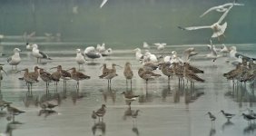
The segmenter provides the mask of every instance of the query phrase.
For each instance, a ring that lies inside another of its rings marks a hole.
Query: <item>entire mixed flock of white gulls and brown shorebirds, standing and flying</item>
[[[107,2],[107,0],[103,0],[103,4],[101,7]],[[208,26],[192,26],[192,27],[181,27],[182,30],[197,30],[197,29],[203,29],[203,28],[212,28],[213,34],[212,38],[218,37],[220,38],[221,35],[224,36],[224,31],[227,27],[227,23],[222,24],[222,21],[224,20],[225,16],[230,12],[233,5],[243,5],[243,4],[237,4],[237,3],[228,3],[224,5],[218,5],[210,8],[205,13],[201,15],[208,14],[209,12],[216,10],[218,12],[223,12],[223,15],[221,18],[214,24],[208,25]],[[219,39],[220,40],[220,39]],[[235,81],[238,81],[240,83],[255,83],[256,79],[256,64],[253,62],[254,59],[250,59],[240,53],[237,53],[236,47],[232,46],[230,48],[226,47],[224,44],[222,44],[222,49],[218,49],[215,47],[214,44],[212,44],[212,41],[210,41],[211,44],[208,45],[208,48],[211,53],[203,55],[205,58],[212,59],[212,62],[215,62],[217,58],[222,56],[231,56],[232,58],[236,58],[238,60],[238,64],[234,70],[231,70],[228,73],[224,73],[223,76],[226,77],[228,80],[231,80],[233,84],[235,84]],[[167,44],[164,43],[156,43],[154,44],[156,49],[160,52],[162,52]],[[187,80],[187,83],[191,83],[191,90],[194,90],[194,83],[200,82],[204,83],[205,80],[202,79],[199,75],[204,73],[203,70],[199,69],[198,67],[193,66],[190,62],[192,60],[192,56],[198,55],[197,52],[195,52],[195,49],[188,48],[183,51],[182,55],[179,55],[176,51],[172,51],[171,55],[162,56],[161,55],[155,55],[153,53],[150,53],[149,49],[151,46],[147,44],[146,42],[143,43],[143,48],[145,49],[144,53],[140,48],[136,48],[133,51],[135,52],[135,58],[139,63],[142,63],[142,66],[138,70],[138,75],[143,80],[145,80],[146,86],[148,82],[154,78],[157,78],[159,76],[162,76],[159,73],[154,73],[155,70],[159,69],[161,70],[162,74],[168,77],[168,83],[170,83],[172,76],[176,76],[178,79],[179,85],[184,85],[185,80]],[[36,63],[41,63],[42,59],[46,60],[52,60],[46,53],[43,53],[38,49],[37,44],[26,44],[26,49],[30,50],[32,55],[36,58]],[[86,47],[84,52],[81,49],[76,49],[76,57],[75,61],[78,64],[78,70],[75,67],[72,67],[68,70],[64,70],[62,68],[62,65],[58,65],[56,67],[53,67],[51,69],[56,69],[54,73],[48,73],[46,70],[42,67],[35,66],[34,72],[28,71],[28,68],[25,68],[23,70],[18,70],[17,65],[21,63],[22,59],[19,55],[21,50],[19,48],[14,49],[14,54],[7,58],[7,63],[12,65],[12,70],[15,71],[15,73],[19,73],[21,71],[24,71],[24,75],[21,80],[24,80],[27,84],[28,92],[32,94],[32,86],[33,83],[38,83],[38,78],[40,77],[42,81],[45,82],[46,87],[46,94],[49,93],[49,83],[54,83],[54,92],[57,92],[58,90],[58,83],[62,79],[64,81],[64,91],[66,91],[66,82],[69,80],[76,81],[76,89],[79,91],[79,84],[82,80],[89,80],[91,77],[80,72],[81,65],[83,66],[84,63],[86,63],[86,58],[90,58],[94,61],[94,59],[101,58],[103,56],[108,56],[113,53],[111,48],[105,49],[105,44],[97,44],[96,47],[89,46]],[[239,57],[237,57],[239,55]],[[180,57],[182,56],[182,57]],[[99,78],[106,79],[108,81],[108,88],[111,89],[112,86],[112,79],[118,74],[116,73],[116,66],[122,67],[116,63],[112,64],[111,68],[108,68],[106,63],[103,63],[103,72],[101,75],[99,75]],[[15,68],[14,68],[15,67]],[[122,67],[123,68],[123,67]],[[3,69],[3,66],[0,66],[0,71],[3,71],[5,74],[5,70]],[[131,90],[132,90],[132,80],[133,80],[133,69],[132,64],[130,62],[127,62],[124,64],[123,68],[123,76],[126,79],[126,85],[128,86],[130,81]],[[3,80],[3,74],[0,73],[0,83],[2,83]],[[0,85],[1,87],[1,85]],[[131,116],[133,119],[136,119],[138,116],[139,110],[132,110],[131,109],[131,103],[136,100],[138,95],[133,94],[133,92],[123,92],[124,100],[126,101],[128,105],[127,111],[124,112],[123,119],[126,118],[126,116]],[[12,102],[5,102],[3,100],[0,101],[0,107],[1,111],[3,109],[7,109],[7,112],[10,114],[10,116],[7,117],[7,120],[15,121],[15,115],[18,115],[20,113],[23,113],[24,111],[20,111],[16,109],[15,107],[11,106]],[[54,112],[52,110],[55,106],[55,104],[51,102],[41,102],[40,106],[42,110],[39,112],[39,115],[45,114],[45,116],[49,115],[50,113]],[[231,120],[231,118],[234,116],[234,114],[227,113],[224,111],[221,111],[222,114],[227,118],[228,121]],[[95,123],[95,128],[97,128],[97,125],[103,126],[103,116],[106,113],[106,105],[102,104],[102,107],[96,111],[93,111],[92,118],[95,120],[98,118],[98,122]],[[215,121],[216,117],[212,114],[212,112],[208,112],[209,117],[211,121]],[[241,114],[243,118],[247,121],[252,121],[256,119],[256,114],[249,110],[249,113],[242,113]]]

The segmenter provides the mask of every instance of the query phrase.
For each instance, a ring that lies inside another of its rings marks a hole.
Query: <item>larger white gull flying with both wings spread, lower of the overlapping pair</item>
[[[224,32],[227,28],[227,23],[225,22],[224,24],[221,24],[223,19],[228,15],[229,11],[231,10],[233,5],[231,5],[227,11],[221,16],[221,18],[214,24],[212,25],[205,25],[205,26],[191,26],[191,27],[182,27],[178,26],[178,28],[182,30],[198,30],[198,29],[204,29],[204,28],[211,28],[213,30],[212,38],[218,37],[218,40],[220,41],[220,36],[224,36]]]

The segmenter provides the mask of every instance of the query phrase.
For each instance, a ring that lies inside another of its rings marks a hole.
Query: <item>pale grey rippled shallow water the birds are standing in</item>
[[[21,49],[25,45],[18,43],[16,45]],[[15,45],[4,44],[3,52],[6,53],[1,57],[1,63],[5,63],[6,56],[12,53]],[[39,44],[40,46],[40,44]],[[241,117],[241,112],[250,107],[256,110],[255,96],[253,88],[249,85],[239,86],[236,90],[232,89],[230,82],[222,77],[222,73],[230,71],[233,66],[225,63],[225,57],[219,58],[215,63],[211,60],[202,59],[200,56],[207,53],[205,45],[169,45],[164,54],[168,54],[175,50],[182,53],[182,50],[195,46],[198,56],[192,59],[192,64],[204,70],[200,76],[205,79],[205,83],[195,83],[194,93],[190,90],[190,85],[182,88],[178,85],[178,80],[173,77],[170,85],[168,85],[167,77],[161,77],[149,81],[146,87],[145,82],[138,76],[137,71],[140,63],[135,61],[133,49],[129,47],[113,50],[113,55],[95,60],[94,63],[87,62],[84,65],[83,73],[91,76],[90,80],[80,82],[80,90],[77,93],[75,82],[68,81],[67,92],[63,92],[63,82],[58,84],[58,93],[54,94],[54,84],[50,84],[51,97],[54,103],[59,106],[54,108],[58,113],[47,117],[38,116],[41,110],[38,101],[45,99],[45,83],[41,81],[33,84],[33,95],[28,95],[25,82],[19,81],[18,77],[22,77],[23,73],[14,73],[11,66],[4,66],[8,76],[2,81],[1,98],[8,102],[13,102],[13,106],[25,111],[15,117],[15,121],[22,122],[15,129],[11,129],[12,135],[101,135],[106,136],[155,136],[155,135],[183,135],[183,136],[205,136],[205,135],[255,135],[255,124],[249,125]],[[229,44],[231,46],[231,44]],[[255,44],[238,45],[241,53],[255,57]],[[58,50],[62,49],[60,53]],[[47,63],[35,63],[36,60],[29,52],[22,52],[22,63],[18,65],[18,69],[29,68],[33,70],[34,65],[49,70],[58,64],[64,69],[73,66],[78,67],[74,61],[75,49],[84,46],[72,46],[72,44],[42,44],[40,49],[48,53],[53,61]],[[251,49],[251,50],[249,50]],[[158,53],[155,49],[151,52]],[[131,62],[133,66],[133,87],[126,86],[123,76],[123,68],[117,68],[118,76],[113,79],[112,88],[107,89],[107,81],[99,79],[101,74],[100,66],[107,63],[116,63],[121,66],[125,62]],[[49,70],[53,73],[54,70]],[[157,70],[156,73],[161,73]],[[140,95],[137,101],[132,102],[133,110],[140,110],[137,120],[133,122],[131,117],[123,120],[123,113],[128,106],[123,100],[124,91],[133,91]],[[58,99],[56,99],[58,98]],[[101,104],[105,103],[107,112],[104,116],[103,123],[94,126],[94,120],[91,113]],[[231,121],[226,119],[220,113],[221,110],[235,113],[236,116]],[[217,120],[215,124],[211,123],[206,112],[212,112]],[[0,117],[0,131],[5,132],[9,124],[5,116]],[[100,127],[105,127],[105,131],[101,131]],[[93,129],[96,128],[96,129]]]

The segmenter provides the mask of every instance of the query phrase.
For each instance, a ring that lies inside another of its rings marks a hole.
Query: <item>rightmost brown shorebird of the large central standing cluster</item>
[[[192,88],[194,88],[194,82],[201,82],[204,83],[204,80],[200,78],[197,74],[192,73],[189,69],[189,64],[184,63],[184,71],[183,71],[183,76],[191,82]]]

